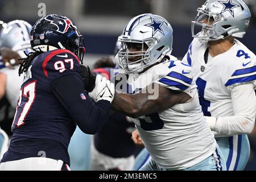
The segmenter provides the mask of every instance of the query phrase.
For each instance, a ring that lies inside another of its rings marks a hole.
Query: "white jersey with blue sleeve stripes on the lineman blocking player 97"
[[[122,70],[119,72],[123,73]],[[156,164],[163,169],[184,169],[212,155],[216,140],[201,111],[191,67],[171,56],[169,61],[155,65],[144,73],[130,74],[127,90],[137,93],[152,82],[191,96],[191,100],[184,104],[131,118]]]

